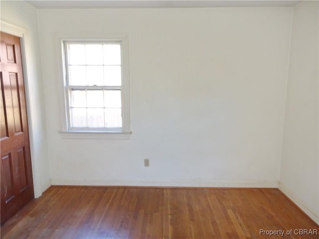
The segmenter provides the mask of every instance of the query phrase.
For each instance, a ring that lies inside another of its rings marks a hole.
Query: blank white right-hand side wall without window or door
[[[319,224],[318,7],[294,9],[280,189]]]

